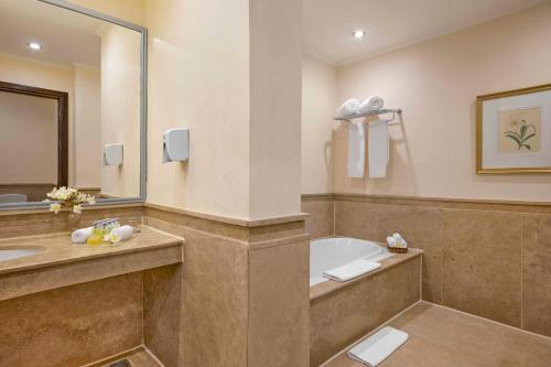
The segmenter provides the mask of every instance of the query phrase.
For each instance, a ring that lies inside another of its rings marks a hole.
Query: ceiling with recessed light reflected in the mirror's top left
[[[63,65],[99,67],[104,21],[36,0],[0,0],[0,53]],[[36,41],[43,50],[32,51]]]

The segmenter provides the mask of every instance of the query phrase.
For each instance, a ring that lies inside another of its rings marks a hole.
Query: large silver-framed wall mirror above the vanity
[[[62,0],[0,0],[0,209],[54,186],[145,197],[147,31]]]

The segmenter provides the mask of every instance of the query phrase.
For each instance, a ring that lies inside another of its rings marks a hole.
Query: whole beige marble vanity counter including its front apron
[[[0,261],[0,301],[183,261],[182,238],[140,230],[115,247],[72,245],[66,233],[0,239],[0,250],[39,250]]]

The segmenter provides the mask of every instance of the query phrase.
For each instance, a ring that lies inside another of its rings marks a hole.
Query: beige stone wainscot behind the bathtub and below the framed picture
[[[399,231],[423,249],[423,300],[551,336],[551,205],[361,195],[334,203],[335,235],[383,241]]]

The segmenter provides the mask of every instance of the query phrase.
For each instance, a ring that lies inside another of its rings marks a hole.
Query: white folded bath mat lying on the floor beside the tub
[[[391,326],[385,326],[364,342],[348,350],[348,357],[376,367],[408,341],[408,334]]]

